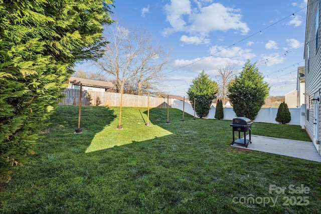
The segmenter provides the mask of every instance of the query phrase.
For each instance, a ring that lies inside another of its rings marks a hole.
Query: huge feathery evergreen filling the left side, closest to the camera
[[[103,53],[113,0],[0,0],[0,180],[22,165],[82,60]]]

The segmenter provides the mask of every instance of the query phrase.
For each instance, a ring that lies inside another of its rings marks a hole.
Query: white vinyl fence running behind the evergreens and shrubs
[[[172,100],[172,108],[177,108],[183,111],[183,101],[180,100]],[[205,119],[215,119],[215,107],[211,107],[209,114]],[[289,125],[301,125],[304,128],[304,106],[301,108],[289,108],[291,113],[291,121],[287,124]],[[185,102],[184,112],[194,116],[194,110],[189,102]],[[301,113],[303,112],[303,113]],[[224,120],[232,120],[236,117],[233,108],[223,108]],[[277,108],[261,108],[258,115],[256,116],[253,122],[264,122],[264,123],[278,123],[275,121],[277,113]],[[195,117],[198,117],[195,114]],[[302,123],[303,121],[303,123]]]

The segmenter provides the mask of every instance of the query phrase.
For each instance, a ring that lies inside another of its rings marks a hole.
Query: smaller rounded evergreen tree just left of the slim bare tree
[[[217,83],[210,80],[204,70],[193,80],[193,85],[190,86],[187,94],[193,108],[194,98],[196,98],[195,112],[200,118],[207,116],[209,113],[212,101],[216,98],[217,88]]]

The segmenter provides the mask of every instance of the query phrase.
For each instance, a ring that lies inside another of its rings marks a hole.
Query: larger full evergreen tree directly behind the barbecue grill
[[[240,75],[228,85],[228,97],[236,116],[254,120],[269,94],[269,89],[255,63],[251,64],[248,60]]]

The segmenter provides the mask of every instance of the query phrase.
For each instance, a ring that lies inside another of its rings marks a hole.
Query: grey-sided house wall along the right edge
[[[305,30],[305,128],[311,140],[319,140],[320,135],[320,119],[321,115],[318,112],[316,119],[318,120],[318,130],[314,132],[314,102],[313,98],[319,97],[321,89],[321,38],[320,38],[320,1],[308,1],[306,30]],[[318,15],[318,17],[316,17]],[[317,29],[316,29],[317,28]],[[320,38],[320,39],[319,39]],[[316,46],[317,45],[317,46]],[[320,111],[320,102],[318,111]],[[319,152],[319,145],[314,142],[315,147]]]

